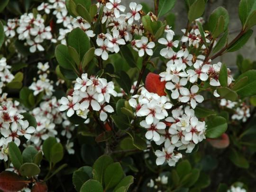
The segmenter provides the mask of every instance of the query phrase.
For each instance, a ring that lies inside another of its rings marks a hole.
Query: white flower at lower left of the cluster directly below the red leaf
[[[153,139],[155,142],[160,140],[160,135],[159,133],[157,133],[157,130],[165,129],[166,127],[165,123],[159,122],[159,120],[155,118],[151,125],[148,125],[145,120],[141,121],[139,124],[141,127],[144,127],[147,129],[145,137],[148,140]]]

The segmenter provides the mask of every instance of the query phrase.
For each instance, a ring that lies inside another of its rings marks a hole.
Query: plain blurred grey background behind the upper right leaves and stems
[[[122,0],[122,3],[129,5],[131,1],[140,3],[145,2],[150,7],[154,7],[154,0]],[[232,40],[239,33],[241,29],[241,23],[238,16],[238,4],[240,0],[208,0],[206,4],[206,11],[203,15],[205,20],[208,20],[210,13],[219,6],[224,7],[229,12],[229,41]],[[187,11],[185,8],[184,0],[177,0],[174,6],[174,9],[171,10],[172,13],[175,14],[175,33],[182,35],[180,31],[182,28],[186,27],[187,23]],[[254,27],[253,29],[256,29]],[[244,58],[250,59],[251,61],[256,61],[256,31],[254,30],[254,34],[250,37],[247,44],[233,53],[226,53],[219,58],[216,58],[215,61],[221,61],[226,63],[230,68],[236,68],[236,57],[238,54],[242,54]]]

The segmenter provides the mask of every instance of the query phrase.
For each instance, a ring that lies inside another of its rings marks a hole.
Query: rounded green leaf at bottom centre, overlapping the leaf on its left
[[[115,187],[123,177],[124,172],[120,163],[110,164],[104,173],[105,190]]]

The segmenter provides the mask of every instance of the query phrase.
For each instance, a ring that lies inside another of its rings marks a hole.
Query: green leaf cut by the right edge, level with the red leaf
[[[236,81],[240,81],[244,77],[248,77],[247,84],[239,89],[237,93],[243,97],[256,95],[256,70],[249,70],[241,74]]]

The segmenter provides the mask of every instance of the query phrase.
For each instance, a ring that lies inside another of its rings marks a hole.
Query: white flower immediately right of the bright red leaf
[[[183,86],[185,86],[188,81],[185,78],[179,79],[177,76],[174,76],[172,81],[174,83],[167,82],[165,84],[165,88],[172,91],[171,97],[173,99],[177,99],[180,96],[179,90],[183,88]]]

